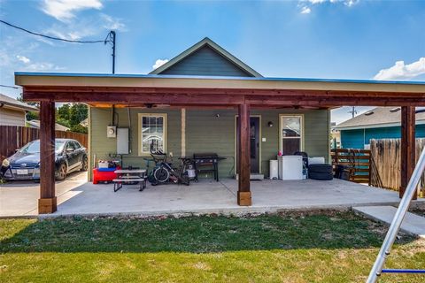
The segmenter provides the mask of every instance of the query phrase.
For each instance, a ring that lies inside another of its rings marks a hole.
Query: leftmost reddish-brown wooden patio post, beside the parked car
[[[38,213],[53,213],[55,195],[55,103],[40,103],[40,199]]]

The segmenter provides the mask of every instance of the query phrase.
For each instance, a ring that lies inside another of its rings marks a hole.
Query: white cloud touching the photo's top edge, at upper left
[[[73,19],[76,11],[102,9],[100,0],[44,0],[42,11],[61,21]]]

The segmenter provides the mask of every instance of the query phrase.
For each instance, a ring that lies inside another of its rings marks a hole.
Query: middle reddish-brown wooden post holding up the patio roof
[[[249,206],[251,201],[251,148],[250,148],[250,105],[239,105],[238,119],[239,152],[237,163],[239,169],[237,204]]]

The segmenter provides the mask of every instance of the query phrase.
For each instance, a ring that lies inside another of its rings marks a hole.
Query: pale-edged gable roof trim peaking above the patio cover
[[[220,47],[219,44],[213,42],[208,37],[205,37],[202,41],[197,42],[195,45],[189,47],[189,49],[184,50],[182,53],[166,62],[166,64],[159,66],[157,69],[153,70],[150,74],[161,74],[165,72],[167,69],[171,68],[173,65],[182,62],[183,59],[193,55],[198,50],[202,48],[209,47],[218,53],[221,57],[226,58],[232,65],[236,65],[239,69],[241,69],[244,73],[251,75],[252,77],[262,77],[261,74],[252,69],[249,65],[244,64],[241,60],[230,54],[227,50]]]

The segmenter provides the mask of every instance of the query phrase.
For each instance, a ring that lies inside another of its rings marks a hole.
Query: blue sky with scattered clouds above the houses
[[[0,19],[103,40],[116,73],[149,73],[205,36],[267,77],[425,80],[425,1],[8,1]],[[13,72],[110,73],[103,43],[52,42],[0,25],[0,84]],[[9,96],[19,89],[0,88]],[[367,108],[358,108],[365,111]],[[348,108],[333,119],[349,119]]]

